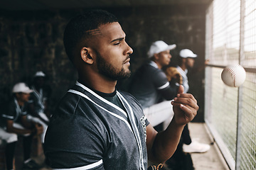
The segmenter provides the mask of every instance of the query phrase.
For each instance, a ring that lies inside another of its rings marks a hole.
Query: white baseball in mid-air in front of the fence
[[[238,87],[245,81],[246,72],[240,64],[229,65],[223,69],[221,79],[228,86]]]

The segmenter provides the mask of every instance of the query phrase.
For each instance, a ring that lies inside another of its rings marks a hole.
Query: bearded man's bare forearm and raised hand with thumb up
[[[196,116],[196,99],[191,94],[182,93],[183,86],[180,86],[172,102],[174,118],[166,130],[158,133],[151,125],[146,127],[146,147],[152,162],[163,163],[174,154],[184,126]]]

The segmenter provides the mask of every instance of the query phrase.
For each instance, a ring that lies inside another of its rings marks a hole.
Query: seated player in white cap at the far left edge
[[[38,169],[41,166],[31,159],[31,142],[34,135],[40,135],[43,128],[40,124],[28,121],[27,102],[33,90],[24,83],[14,85],[14,97],[1,115],[0,137],[6,140],[6,169],[13,168],[14,153],[18,135],[23,136],[23,169]]]

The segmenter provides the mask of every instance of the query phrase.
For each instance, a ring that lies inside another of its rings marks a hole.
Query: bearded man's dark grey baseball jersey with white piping
[[[53,169],[146,169],[142,106],[122,91],[109,97],[123,109],[79,82],[60,100],[45,139]]]

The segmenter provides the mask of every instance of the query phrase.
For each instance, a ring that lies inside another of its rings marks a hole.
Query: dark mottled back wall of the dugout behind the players
[[[105,8],[114,13],[133,48],[131,69],[144,62],[151,42],[176,43],[172,65],[178,51],[190,48],[198,54],[196,65],[204,62],[206,5],[143,6]],[[52,107],[78,78],[65,55],[63,30],[66,23],[83,10],[66,11],[1,11],[0,12],[0,103],[8,98],[18,81],[31,82],[36,71],[48,76],[53,89]],[[191,93],[201,107],[195,121],[203,121],[203,72],[191,75]],[[119,81],[118,89],[126,90],[130,79]]]

